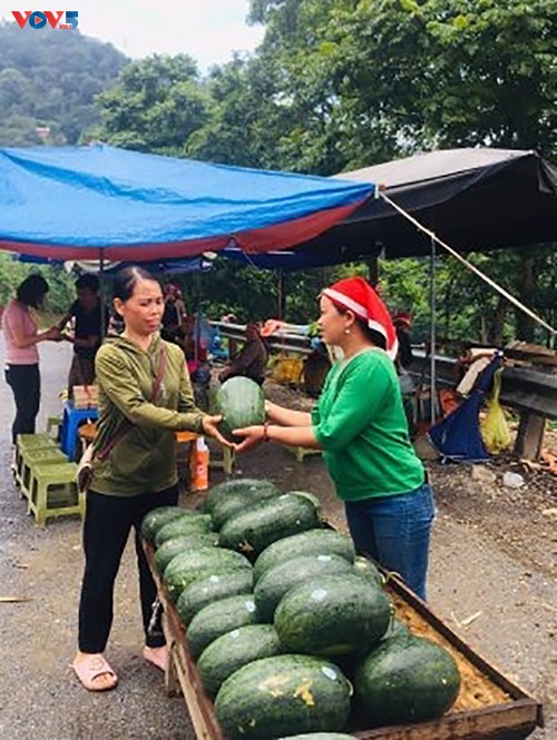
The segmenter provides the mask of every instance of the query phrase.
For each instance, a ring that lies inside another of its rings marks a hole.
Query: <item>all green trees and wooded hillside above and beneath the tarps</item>
[[[265,26],[252,56],[203,76],[190,57],[130,61],[79,32],[0,26],[0,145],[104,140],[141,151],[247,167],[333,175],[434,148],[494,146],[557,157],[557,0],[252,0]],[[38,129],[47,127],[45,138]],[[525,204],[527,207],[527,204]],[[555,245],[470,259],[557,323]],[[41,268],[47,269],[47,268]],[[52,270],[52,268],[50,268]],[[381,260],[379,289],[430,324],[429,262]],[[321,287],[373,265],[280,276],[217,259],[174,277],[188,308],[211,316],[315,315]],[[28,267],[0,259],[0,299]],[[71,282],[49,273],[62,309]],[[437,264],[444,337],[546,342],[450,257]],[[63,305],[63,306],[62,306]]]

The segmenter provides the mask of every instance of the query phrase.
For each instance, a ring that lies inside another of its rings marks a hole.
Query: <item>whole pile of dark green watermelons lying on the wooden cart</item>
[[[228,740],[342,740],[355,714],[424,721],[457,699],[452,655],[394,616],[379,571],[312,494],[227,481],[203,511],[157,509],[141,531]]]

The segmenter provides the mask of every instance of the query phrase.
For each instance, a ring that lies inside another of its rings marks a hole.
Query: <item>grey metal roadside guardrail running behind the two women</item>
[[[212,322],[223,336],[242,341],[245,326]],[[267,345],[274,351],[296,352],[309,355],[310,337],[302,334],[276,333],[266,337]],[[414,349],[414,362],[410,374],[414,379],[430,381],[431,361],[423,351]],[[436,383],[441,386],[455,385],[453,357],[436,357]],[[501,403],[520,412],[532,412],[547,418],[557,418],[557,373],[544,373],[529,367],[504,367],[501,375]]]

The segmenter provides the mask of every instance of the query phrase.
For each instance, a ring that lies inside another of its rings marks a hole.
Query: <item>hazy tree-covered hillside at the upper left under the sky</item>
[[[0,146],[77,144],[128,58],[76,31],[0,22]]]

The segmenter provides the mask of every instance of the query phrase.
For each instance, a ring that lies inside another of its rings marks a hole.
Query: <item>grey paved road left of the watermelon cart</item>
[[[3,343],[0,343],[3,361]],[[71,351],[43,344],[39,430],[60,408]],[[3,363],[2,363],[3,367]],[[2,378],[3,381],[3,378]],[[116,591],[108,658],[120,685],[88,693],[69,664],[82,572],[80,524],[75,517],[33,526],[9,473],[12,399],[0,383],[0,738],[10,740],[194,740],[180,699],[168,699],[162,673],[139,657],[141,630],[133,550],[128,546]]]

